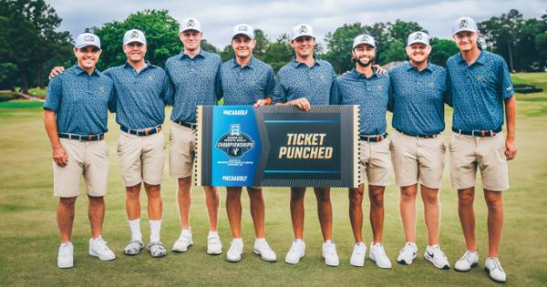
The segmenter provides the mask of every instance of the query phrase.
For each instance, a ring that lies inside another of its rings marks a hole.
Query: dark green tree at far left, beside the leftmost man
[[[57,32],[61,18],[43,0],[0,0],[0,62],[15,65],[21,92],[27,93],[31,77],[44,87],[45,65],[65,50],[67,32]],[[32,75],[35,72],[35,75]]]

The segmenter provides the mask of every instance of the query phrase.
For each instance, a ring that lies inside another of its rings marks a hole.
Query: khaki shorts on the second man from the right
[[[389,148],[397,186],[419,182],[429,189],[440,188],[446,151],[440,134],[437,138],[416,138],[395,129]]]

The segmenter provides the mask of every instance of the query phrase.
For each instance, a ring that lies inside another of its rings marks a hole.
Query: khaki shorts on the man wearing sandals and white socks
[[[121,176],[126,187],[133,187],[144,181],[158,185],[163,178],[163,149],[165,138],[162,133],[138,137],[119,132],[118,157]]]

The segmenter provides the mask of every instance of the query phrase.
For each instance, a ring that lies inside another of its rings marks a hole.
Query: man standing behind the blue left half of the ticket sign
[[[256,45],[254,29],[246,24],[233,27],[232,48],[235,57],[221,66],[221,92],[224,105],[269,105],[274,89],[274,70],[253,56]],[[226,211],[232,229],[232,244],[226,252],[227,261],[241,261],[243,254],[242,239],[242,188],[226,188]],[[265,240],[265,206],[260,187],[247,187],[251,200],[251,216],[254,223],[253,252],[263,261],[277,261],[274,251]]]

